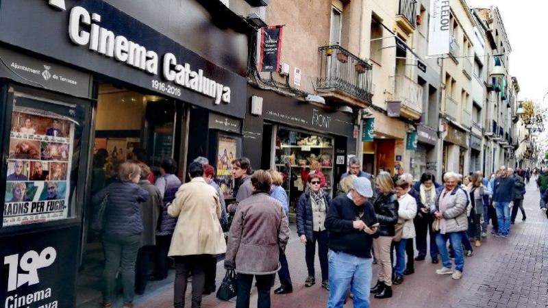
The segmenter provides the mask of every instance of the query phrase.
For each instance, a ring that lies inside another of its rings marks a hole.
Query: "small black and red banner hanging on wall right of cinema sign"
[[[279,25],[261,28],[260,72],[275,72],[278,70],[279,56],[282,54],[283,27]]]

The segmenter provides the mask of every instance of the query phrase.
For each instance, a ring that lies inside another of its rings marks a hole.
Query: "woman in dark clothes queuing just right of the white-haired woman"
[[[484,194],[485,187],[481,177],[476,174],[471,175],[468,184],[469,198],[472,205],[468,219],[468,235],[473,239],[474,246],[482,246],[482,215],[484,214]]]

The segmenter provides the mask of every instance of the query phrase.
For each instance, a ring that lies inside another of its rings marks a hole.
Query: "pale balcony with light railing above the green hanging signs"
[[[386,96],[386,101],[401,101],[400,115],[418,120],[423,113],[423,87],[405,75],[390,76],[394,87]]]

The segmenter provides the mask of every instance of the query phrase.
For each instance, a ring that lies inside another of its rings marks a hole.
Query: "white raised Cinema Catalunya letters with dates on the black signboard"
[[[69,16],[69,38],[80,46],[88,46],[90,51],[114,58],[119,62],[125,62],[128,66],[142,70],[151,75],[158,75],[158,70],[163,79],[172,81],[178,86],[212,97],[215,104],[230,103],[230,88],[219,82],[203,76],[203,70],[192,70],[188,63],[178,63],[173,53],[163,55],[162,66],[160,57],[155,51],[119,36],[114,32],[99,26],[101,15],[88,12],[81,6],[75,6]],[[180,90],[173,88],[173,93],[167,91],[167,87],[160,88],[159,81],[153,88],[169,94],[180,96]],[[155,86],[157,85],[157,86]]]

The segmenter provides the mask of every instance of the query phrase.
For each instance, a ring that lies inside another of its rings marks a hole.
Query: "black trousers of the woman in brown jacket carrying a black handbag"
[[[238,297],[236,298],[236,308],[249,308],[249,292],[251,292],[253,277],[255,277],[255,280],[257,281],[257,308],[270,308],[270,290],[274,285],[274,274],[238,274],[238,291],[236,293],[238,294]]]

